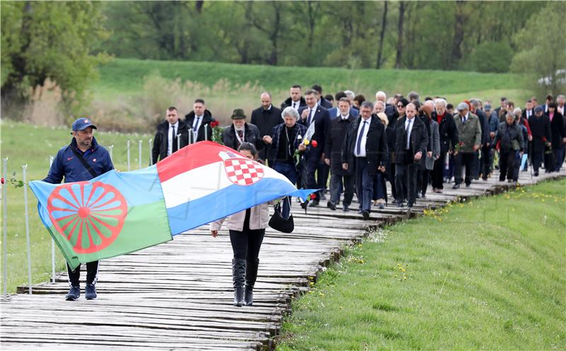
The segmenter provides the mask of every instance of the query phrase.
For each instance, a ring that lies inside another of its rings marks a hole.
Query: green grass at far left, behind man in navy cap
[[[22,180],[21,165],[27,164],[27,180],[45,178],[49,171],[49,156],[55,156],[57,151],[71,142],[70,128],[37,127],[23,123],[2,120],[1,122],[1,157],[8,158],[8,179]],[[131,169],[138,168],[138,140],[144,140],[142,157],[144,166],[149,164],[149,135],[105,133],[103,126],[95,132],[98,143],[103,146],[114,145],[112,153],[115,168],[127,171],[126,142],[130,140]],[[15,174],[14,174],[15,173]],[[4,174],[4,173],[2,173]],[[4,176],[4,175],[2,175]],[[23,187],[15,188],[7,185],[8,196],[8,292],[16,292],[18,285],[28,284],[28,263],[25,242],[25,217]],[[47,229],[37,215],[37,200],[28,188],[28,206],[30,218],[30,246],[32,257],[33,282],[49,280],[51,272],[51,242]],[[1,220],[4,220],[3,214]],[[4,240],[4,234],[1,238]],[[64,270],[64,259],[57,253],[57,271]],[[2,255],[4,252],[2,251]],[[2,264],[4,260],[2,260]],[[1,289],[0,289],[1,291]]]

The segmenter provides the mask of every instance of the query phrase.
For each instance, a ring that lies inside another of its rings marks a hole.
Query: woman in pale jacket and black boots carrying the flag
[[[258,150],[248,142],[241,144],[238,151],[248,159],[258,158]],[[210,232],[214,238],[218,236],[218,231],[226,219],[228,219],[227,225],[234,254],[232,259],[234,306],[252,306],[253,285],[258,277],[260,263],[258,255],[265,228],[269,223],[269,205],[266,202],[213,221],[210,224]]]

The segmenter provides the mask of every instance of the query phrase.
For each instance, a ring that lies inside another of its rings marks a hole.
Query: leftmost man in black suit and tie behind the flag
[[[165,159],[178,149],[189,143],[187,125],[179,120],[177,108],[171,107],[166,111],[166,120],[159,123],[154,137],[154,147],[151,149],[151,163]]]

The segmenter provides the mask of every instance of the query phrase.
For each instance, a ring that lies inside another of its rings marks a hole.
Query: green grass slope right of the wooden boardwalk
[[[565,350],[566,180],[377,231],[294,301],[278,350]]]

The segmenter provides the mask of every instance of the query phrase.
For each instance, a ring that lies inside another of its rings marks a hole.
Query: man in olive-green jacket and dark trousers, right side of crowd
[[[458,145],[454,151],[454,186],[460,188],[462,183],[462,166],[466,166],[466,187],[472,183],[475,151],[482,142],[482,126],[477,115],[470,113],[467,103],[456,106],[458,113],[454,115],[454,123],[458,130]]]

